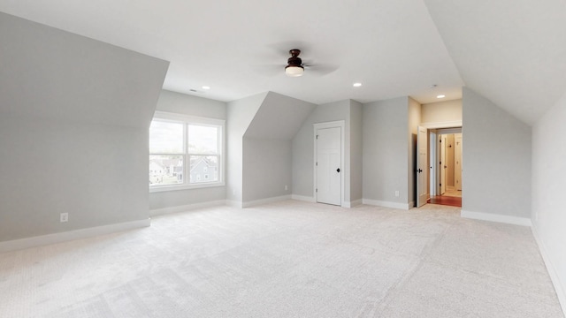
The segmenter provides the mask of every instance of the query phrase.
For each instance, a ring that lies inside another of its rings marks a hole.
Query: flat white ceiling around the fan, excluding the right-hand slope
[[[0,11],[171,61],[165,89],[219,101],[267,91],[316,104],[462,94],[422,0],[0,0]],[[289,49],[314,65],[302,78],[284,74]]]

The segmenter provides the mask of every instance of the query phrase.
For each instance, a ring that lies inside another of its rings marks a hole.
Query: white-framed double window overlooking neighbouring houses
[[[224,120],[156,111],[149,127],[150,192],[224,186],[223,132]]]

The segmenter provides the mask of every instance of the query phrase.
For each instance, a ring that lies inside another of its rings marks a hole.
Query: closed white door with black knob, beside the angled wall
[[[341,128],[317,130],[317,202],[341,205]]]

